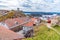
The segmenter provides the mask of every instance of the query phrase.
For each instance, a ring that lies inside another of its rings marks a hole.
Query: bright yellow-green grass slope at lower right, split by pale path
[[[55,27],[60,31],[60,27]],[[35,36],[32,38],[26,38],[24,40],[60,40],[60,35],[53,30],[49,30],[46,26],[39,26]]]

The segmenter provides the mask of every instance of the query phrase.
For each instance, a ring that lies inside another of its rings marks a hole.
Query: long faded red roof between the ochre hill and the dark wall
[[[7,19],[5,21],[5,23],[8,25],[9,28],[16,25],[15,22],[18,22],[18,24],[21,24],[21,23],[25,22],[25,19],[23,19],[23,18],[13,18],[13,19]]]

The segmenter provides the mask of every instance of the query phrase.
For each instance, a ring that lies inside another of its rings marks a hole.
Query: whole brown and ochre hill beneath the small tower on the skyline
[[[8,18],[14,18],[14,17],[20,17],[20,16],[25,16],[22,11],[10,11],[5,15],[0,15],[0,21],[6,20]]]

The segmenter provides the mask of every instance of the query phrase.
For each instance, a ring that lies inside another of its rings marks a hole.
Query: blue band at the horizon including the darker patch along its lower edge
[[[53,14],[60,15],[60,12],[24,12],[24,13],[26,15],[32,15],[32,16],[53,15]]]

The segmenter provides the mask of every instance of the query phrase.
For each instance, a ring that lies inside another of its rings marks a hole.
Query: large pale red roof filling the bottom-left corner
[[[21,35],[16,34],[15,32],[8,30],[0,26],[0,40],[13,40],[23,38]]]

